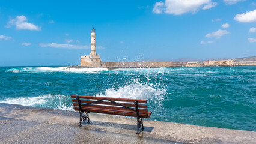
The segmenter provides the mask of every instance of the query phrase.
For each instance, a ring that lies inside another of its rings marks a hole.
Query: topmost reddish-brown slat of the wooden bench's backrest
[[[137,100],[137,99],[130,99],[130,98],[111,98],[111,97],[93,97],[93,96],[85,96],[85,95],[71,95],[72,98],[76,98],[79,96],[80,99],[90,99],[90,100],[101,100],[103,98],[108,98],[112,101],[124,101],[124,102],[134,102],[135,100],[138,103],[147,103],[147,100]]]

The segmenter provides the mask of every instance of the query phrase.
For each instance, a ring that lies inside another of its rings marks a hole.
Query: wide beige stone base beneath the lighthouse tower
[[[81,66],[83,67],[102,67],[102,59],[100,59],[100,55],[84,55],[81,56]]]

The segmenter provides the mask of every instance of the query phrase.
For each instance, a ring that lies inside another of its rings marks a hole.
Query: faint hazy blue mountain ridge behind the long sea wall
[[[178,59],[145,59],[143,61],[148,61],[148,62],[191,62],[191,61],[198,61],[198,62],[203,62],[203,61],[218,61],[218,60],[224,60],[224,59],[233,59],[233,58],[205,58],[205,59],[198,59],[198,58],[178,58]]]

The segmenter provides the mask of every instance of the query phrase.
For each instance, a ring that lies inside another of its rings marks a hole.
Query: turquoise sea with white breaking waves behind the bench
[[[151,120],[256,131],[256,67],[0,67],[0,103],[72,110],[70,95],[148,100]]]

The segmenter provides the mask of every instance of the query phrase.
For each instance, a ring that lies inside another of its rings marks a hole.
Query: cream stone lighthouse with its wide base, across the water
[[[96,53],[96,33],[91,29],[91,53],[90,55],[81,56],[81,66],[83,67],[102,67],[102,59]]]

